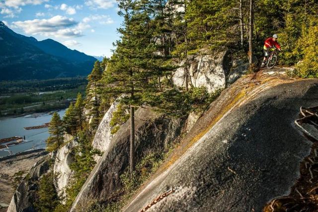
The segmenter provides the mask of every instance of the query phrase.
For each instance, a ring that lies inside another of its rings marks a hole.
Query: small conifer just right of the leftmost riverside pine
[[[65,115],[63,117],[63,122],[65,126],[65,131],[71,135],[77,136],[77,126],[78,126],[78,119],[77,119],[76,109],[71,102],[69,108],[66,110]]]

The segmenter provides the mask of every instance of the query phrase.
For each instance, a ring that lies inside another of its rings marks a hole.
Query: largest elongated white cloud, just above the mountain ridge
[[[21,28],[25,33],[32,35],[53,36],[58,38],[73,38],[82,36],[82,30],[90,27],[78,23],[73,18],[57,15],[50,19],[34,19],[15,21],[12,25]]]

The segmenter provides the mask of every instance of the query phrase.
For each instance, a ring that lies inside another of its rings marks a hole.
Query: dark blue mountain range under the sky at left
[[[52,39],[17,34],[0,21],[0,81],[83,76],[95,61]]]

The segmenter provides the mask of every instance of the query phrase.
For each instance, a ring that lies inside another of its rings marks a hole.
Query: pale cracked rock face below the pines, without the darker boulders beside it
[[[226,87],[230,71],[227,52],[189,56],[187,60],[191,64],[188,73],[183,60],[171,78],[176,86],[185,87],[187,83],[189,87],[205,86],[209,92]]]

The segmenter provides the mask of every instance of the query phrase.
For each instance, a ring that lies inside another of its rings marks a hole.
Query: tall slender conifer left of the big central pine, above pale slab
[[[91,118],[89,127],[91,130],[96,130],[100,120],[100,87],[99,80],[102,77],[102,69],[99,61],[96,61],[94,68],[88,75],[88,84],[86,88],[86,108],[89,111],[88,116]]]

